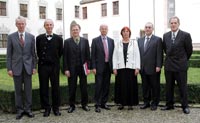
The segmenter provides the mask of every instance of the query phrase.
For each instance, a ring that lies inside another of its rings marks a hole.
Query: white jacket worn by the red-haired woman
[[[130,40],[127,50],[126,65],[124,63],[123,42],[115,44],[113,53],[113,69],[140,69],[140,51],[136,40]]]

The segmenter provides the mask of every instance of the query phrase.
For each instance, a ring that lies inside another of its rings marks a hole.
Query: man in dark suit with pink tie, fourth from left
[[[110,77],[112,72],[112,55],[114,40],[107,36],[108,26],[100,26],[101,35],[92,40],[91,68],[95,75],[95,111],[101,112],[100,107],[110,110],[108,101]]]

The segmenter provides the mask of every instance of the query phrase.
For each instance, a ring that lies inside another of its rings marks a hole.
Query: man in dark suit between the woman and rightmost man
[[[138,40],[141,57],[141,78],[144,105],[141,109],[151,106],[156,110],[160,101],[160,70],[162,67],[162,39],[152,34],[153,24],[145,24],[145,37]],[[152,102],[151,102],[152,100]]]

